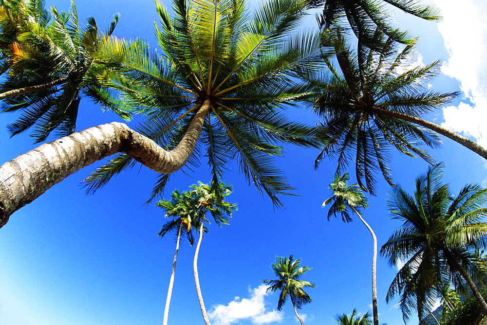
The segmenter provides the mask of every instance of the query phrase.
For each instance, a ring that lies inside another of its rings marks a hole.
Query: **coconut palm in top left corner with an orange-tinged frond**
[[[42,142],[53,130],[59,136],[73,133],[83,96],[129,119],[133,109],[102,87],[110,69],[94,57],[112,34],[118,15],[103,33],[93,17],[81,28],[74,3],[68,12],[51,8],[51,17],[43,4],[39,0],[8,0],[0,7],[1,27],[6,28],[2,30],[4,42],[12,42],[10,48],[2,49],[4,69],[9,73],[0,84],[1,111],[21,111],[19,119],[7,126],[10,134],[35,126],[32,136]],[[16,18],[19,22],[13,28],[10,25]]]

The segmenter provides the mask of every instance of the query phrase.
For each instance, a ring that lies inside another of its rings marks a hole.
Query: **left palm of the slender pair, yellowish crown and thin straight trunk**
[[[168,233],[176,232],[176,251],[174,252],[174,258],[172,261],[172,271],[169,280],[168,296],[166,298],[166,307],[164,308],[163,324],[167,325],[169,318],[169,305],[171,302],[172,287],[174,284],[174,274],[176,272],[176,261],[179,252],[179,242],[181,239],[181,235],[186,235],[189,244],[193,246],[193,230],[195,228],[200,228],[200,225],[197,223],[201,222],[201,220],[194,216],[194,199],[191,197],[189,191],[181,193],[177,189],[175,189],[171,193],[171,199],[169,201],[160,200],[159,202],[157,202],[156,206],[161,207],[164,209],[164,211],[166,211],[165,217],[172,218],[162,226],[162,229],[159,232],[159,236],[164,237]],[[205,227],[203,230],[207,232],[207,229]]]

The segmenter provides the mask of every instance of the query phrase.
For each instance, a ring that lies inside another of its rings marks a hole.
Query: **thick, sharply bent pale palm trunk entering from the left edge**
[[[42,144],[0,166],[0,228],[12,213],[37,199],[51,186],[93,162],[126,152],[156,172],[179,170],[193,152],[209,110],[198,109],[181,142],[166,151],[123,123],[113,122]]]

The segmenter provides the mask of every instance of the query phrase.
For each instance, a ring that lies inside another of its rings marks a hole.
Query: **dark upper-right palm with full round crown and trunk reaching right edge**
[[[323,118],[319,131],[327,144],[317,159],[337,156],[337,172],[355,160],[356,178],[362,188],[375,192],[375,171],[393,184],[388,164],[390,147],[409,156],[433,163],[419,145],[437,147],[446,136],[487,159],[487,150],[448,129],[422,119],[422,116],[448,103],[458,93],[427,90],[426,83],[438,71],[438,62],[411,69],[414,42],[396,52],[391,38],[380,52],[358,43],[355,53],[346,37],[336,29],[325,42],[337,58],[341,73],[331,64],[329,71],[316,78],[315,109]],[[329,61],[328,61],[329,62]]]

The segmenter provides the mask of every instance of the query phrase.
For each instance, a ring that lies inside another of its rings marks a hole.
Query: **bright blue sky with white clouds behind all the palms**
[[[66,0],[46,1],[47,6],[68,9]],[[166,3],[170,6],[170,3]],[[120,12],[117,36],[142,36],[153,40],[152,0],[76,1],[81,19],[94,16],[99,25]],[[431,82],[437,91],[461,91],[447,108],[428,116],[487,146],[487,54],[484,39],[487,5],[483,1],[441,0],[437,5],[443,22],[424,22],[397,13],[403,29],[420,36],[418,64],[444,62],[442,75]],[[311,17],[311,16],[310,16]],[[309,20],[313,23],[313,18]],[[292,112],[310,123],[306,112]],[[0,161],[6,162],[35,147],[27,134],[8,138],[5,125],[14,115],[0,116]],[[84,101],[78,130],[120,121],[110,112]],[[129,124],[130,126],[131,124]],[[444,180],[457,192],[465,183],[486,186],[486,161],[459,144],[444,139],[441,149],[431,150],[447,165]],[[299,196],[282,198],[285,210],[274,210],[230,165],[226,181],[234,186],[228,201],[238,203],[230,225],[210,225],[200,257],[200,282],[213,324],[297,324],[292,306],[276,310],[277,294],[265,294],[264,278],[272,278],[276,256],[293,254],[313,268],[304,279],[315,283],[313,298],[305,306],[306,324],[334,324],[338,313],[371,311],[372,239],[358,220],[345,224],[326,220],[324,199],[335,164],[322,162],[315,171],[318,151],[288,146],[276,159]],[[0,230],[0,324],[160,324],[164,311],[174,238],[159,238],[163,210],[143,203],[150,195],[155,172],[136,166],[92,196],[80,181],[95,166],[87,167],[55,185],[33,203],[23,207]],[[394,180],[412,189],[416,176],[428,165],[420,159],[394,153]],[[166,190],[186,190],[197,181],[209,181],[205,164],[185,175],[177,172]],[[354,180],[355,182],[355,180]],[[364,218],[375,230],[379,246],[400,224],[386,208],[389,187],[380,181],[378,195],[371,198]],[[358,221],[358,222],[357,222]],[[169,324],[203,324],[192,277],[194,248],[183,243],[178,256]],[[385,303],[386,291],[395,274],[382,258],[377,281],[379,321],[402,324],[395,302]],[[414,318],[410,324],[415,324]]]

